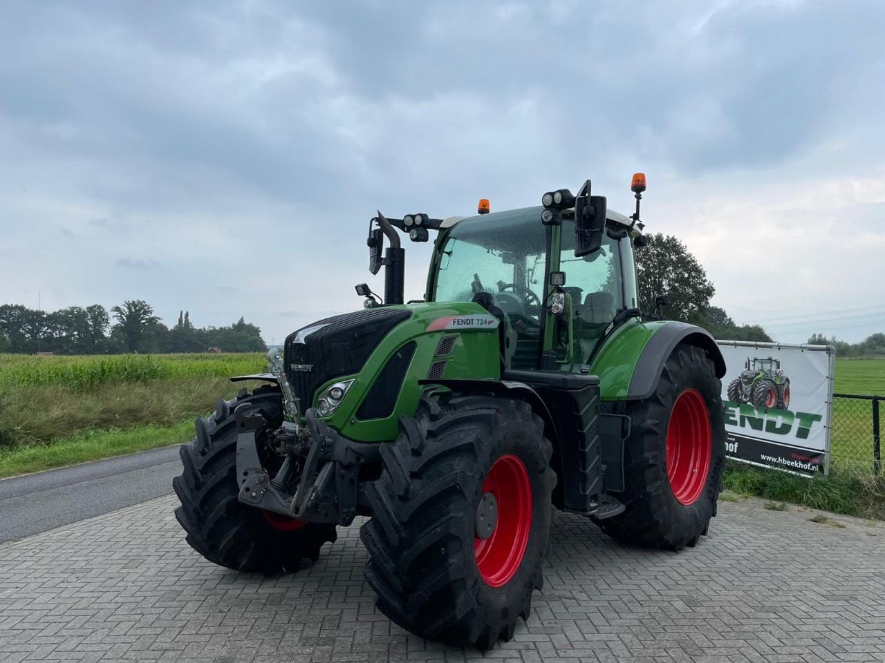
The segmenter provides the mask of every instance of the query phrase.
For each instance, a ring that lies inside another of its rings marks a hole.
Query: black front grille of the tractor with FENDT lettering
[[[412,311],[404,309],[365,309],[327,317],[289,334],[285,344],[286,377],[300,401],[302,414],[312,407],[313,395],[320,386],[333,377],[357,373],[381,339],[411,316]]]

